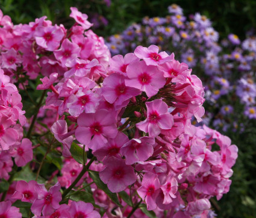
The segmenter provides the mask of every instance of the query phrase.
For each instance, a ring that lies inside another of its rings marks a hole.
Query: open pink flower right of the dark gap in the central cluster
[[[157,137],[161,129],[171,129],[173,126],[172,114],[168,113],[168,106],[161,99],[146,102],[147,118],[137,123],[141,131],[148,132],[150,137]]]

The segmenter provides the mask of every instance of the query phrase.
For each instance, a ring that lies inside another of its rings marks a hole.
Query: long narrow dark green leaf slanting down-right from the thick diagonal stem
[[[104,184],[104,182],[101,181],[101,179],[99,178],[99,173],[97,172],[90,172],[89,171],[89,175],[90,175],[90,178],[92,178],[92,180],[95,182],[95,184],[97,185],[97,187],[99,189],[101,189],[102,191],[104,191],[108,197],[110,197],[110,199],[115,203],[117,204],[119,207],[122,207],[122,205],[120,204],[118,198],[117,198],[117,195],[116,193],[112,193],[110,192],[110,190],[108,189],[107,185]]]

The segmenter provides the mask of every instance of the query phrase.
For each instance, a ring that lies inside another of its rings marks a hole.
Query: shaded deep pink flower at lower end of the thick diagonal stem
[[[37,216],[48,216],[54,213],[54,209],[60,208],[61,201],[60,183],[57,182],[49,191],[46,190],[45,184],[36,184],[35,191],[38,194],[37,199],[31,205],[31,211]]]

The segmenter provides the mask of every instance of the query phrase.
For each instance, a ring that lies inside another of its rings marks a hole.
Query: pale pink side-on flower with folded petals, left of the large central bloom
[[[58,140],[58,142],[63,143],[63,151],[62,154],[64,157],[70,157],[70,147],[73,142],[73,136],[67,135],[64,139],[61,138],[62,135],[67,134],[67,122],[66,120],[57,120],[52,126],[51,131],[54,134],[55,139]]]

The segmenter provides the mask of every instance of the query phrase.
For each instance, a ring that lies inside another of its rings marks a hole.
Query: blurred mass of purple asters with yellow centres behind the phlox
[[[120,34],[108,38],[111,54],[126,54],[138,45],[157,45],[178,60],[196,69],[205,87],[208,107],[203,122],[220,131],[243,132],[245,120],[255,119],[255,37],[240,40],[236,34],[219,40],[219,33],[204,15],[192,14],[172,4],[166,17],[145,17]],[[233,99],[233,101],[230,101]],[[223,102],[233,110],[220,110]],[[239,104],[237,104],[239,102]],[[217,113],[216,113],[217,111]],[[237,113],[241,113],[237,117]],[[247,124],[246,124],[247,125]]]

